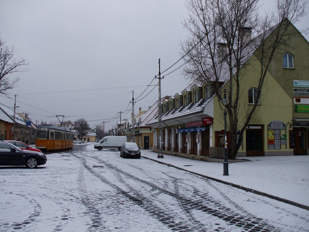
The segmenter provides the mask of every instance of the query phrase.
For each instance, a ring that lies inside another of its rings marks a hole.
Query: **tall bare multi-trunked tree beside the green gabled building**
[[[274,54],[283,45],[290,46],[295,36],[291,23],[306,15],[306,0],[277,0],[277,13],[259,14],[258,0],[187,0],[189,18],[183,22],[190,38],[181,43],[187,62],[184,75],[193,81],[205,82],[222,100],[222,85],[227,89],[228,157],[235,158],[243,133],[257,110],[265,75]],[[250,35],[255,35],[251,40]],[[282,51],[281,51],[282,52]],[[244,109],[241,84],[245,81],[248,59],[255,54],[260,62],[260,76],[255,102]],[[246,118],[239,112],[246,110]],[[237,130],[240,136],[237,142]]]

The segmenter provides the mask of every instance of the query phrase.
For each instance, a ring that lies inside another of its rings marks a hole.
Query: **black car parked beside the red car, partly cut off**
[[[46,164],[47,158],[43,153],[23,151],[5,141],[0,141],[0,166],[27,166],[36,168]]]

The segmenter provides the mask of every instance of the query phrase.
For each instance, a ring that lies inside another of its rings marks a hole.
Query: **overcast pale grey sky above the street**
[[[267,10],[275,6],[275,0],[263,2]],[[142,92],[158,75],[159,58],[161,72],[180,58],[187,16],[184,0],[1,0],[1,38],[15,46],[15,59],[29,65],[18,73],[12,99],[0,95],[0,102],[14,107],[16,94],[18,112],[30,114],[34,123],[65,115],[72,122],[86,118],[91,127],[131,109],[132,91],[136,100],[144,97],[135,113],[147,110],[158,100],[158,88]],[[295,26],[300,30],[308,22],[307,15]],[[180,71],[161,83],[162,97],[188,85]],[[130,112],[121,116],[129,118]],[[106,123],[105,130],[114,124]]]

